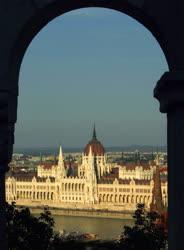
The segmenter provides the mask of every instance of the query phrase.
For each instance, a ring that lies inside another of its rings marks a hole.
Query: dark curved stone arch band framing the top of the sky
[[[11,76],[11,81],[16,87],[18,85],[20,66],[26,49],[29,47],[29,44],[31,43],[33,38],[39,33],[39,31],[54,18],[66,12],[86,7],[102,7],[112,9],[127,14],[134,20],[137,20],[145,28],[147,28],[147,30],[150,31],[151,34],[156,38],[157,42],[162,48],[162,51],[167,59],[169,66],[171,66],[170,60],[168,58],[169,55],[166,46],[166,39],[164,39],[164,32],[161,32],[160,27],[158,27],[158,22],[154,20],[153,16],[150,15],[149,12],[144,10],[144,5],[140,7],[140,4],[136,1],[124,0],[122,2],[119,0],[55,0],[49,2],[46,1],[45,3],[44,1],[42,2],[43,3],[41,3],[41,8],[35,7],[35,12],[32,12],[32,9],[30,9],[30,12],[32,14],[28,15],[27,18],[22,21],[21,26],[19,28],[19,32],[17,32],[18,34],[12,47],[12,53],[9,62],[9,75]],[[35,3],[35,5],[37,5],[37,3]]]

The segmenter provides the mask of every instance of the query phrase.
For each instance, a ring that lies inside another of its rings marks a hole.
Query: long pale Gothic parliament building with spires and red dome
[[[32,173],[10,171],[6,177],[6,199],[17,205],[111,211],[133,211],[137,203],[145,203],[149,209],[158,164],[158,157],[147,165],[140,161],[127,165],[108,163],[94,128],[81,164],[66,161],[60,147],[55,164],[40,162]],[[161,192],[167,205],[167,176],[163,172]]]

